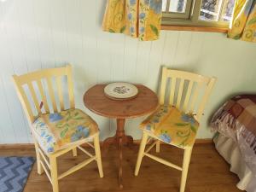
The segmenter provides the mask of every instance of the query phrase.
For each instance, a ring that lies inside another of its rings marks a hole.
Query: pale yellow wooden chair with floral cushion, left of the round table
[[[99,130],[93,119],[75,108],[72,67],[67,65],[20,76],[14,75],[13,80],[31,126],[38,174],[46,173],[53,191],[59,191],[58,181],[61,178],[78,171],[93,160],[96,160],[100,177],[103,177]],[[63,89],[65,84],[67,88]],[[63,90],[68,95],[68,109],[65,109],[67,102],[64,102]],[[94,145],[88,143],[91,139]],[[81,147],[84,143],[95,148],[95,155]],[[90,158],[59,175],[56,158],[71,150],[73,156],[77,156],[77,148]]]

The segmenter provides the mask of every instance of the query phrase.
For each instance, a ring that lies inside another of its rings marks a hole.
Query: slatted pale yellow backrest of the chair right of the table
[[[215,78],[163,67],[160,104],[167,103],[185,113],[193,113],[195,119],[200,120],[215,81]]]

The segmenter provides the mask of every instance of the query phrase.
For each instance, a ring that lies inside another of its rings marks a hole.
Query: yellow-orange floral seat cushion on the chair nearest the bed
[[[164,143],[187,147],[195,143],[199,123],[193,114],[183,113],[174,107],[160,106],[140,127]]]

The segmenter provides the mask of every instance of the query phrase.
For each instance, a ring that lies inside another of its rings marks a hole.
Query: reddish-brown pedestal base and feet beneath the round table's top
[[[125,135],[125,119],[116,119],[117,130],[114,137],[107,138],[103,143],[103,148],[108,148],[110,144],[117,144],[119,148],[119,187],[123,188],[122,184],[122,160],[123,160],[123,144],[132,145],[133,138]]]

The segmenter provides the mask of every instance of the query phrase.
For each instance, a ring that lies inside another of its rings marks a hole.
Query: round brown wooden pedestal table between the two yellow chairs
[[[117,143],[119,148],[119,187],[122,188],[122,145],[133,143],[131,136],[125,135],[125,119],[136,118],[154,112],[158,107],[158,98],[148,87],[136,84],[138,95],[125,101],[113,100],[105,96],[104,87],[107,84],[96,84],[84,93],[84,105],[90,111],[104,117],[116,119],[117,130],[114,137],[107,138],[103,146]]]

